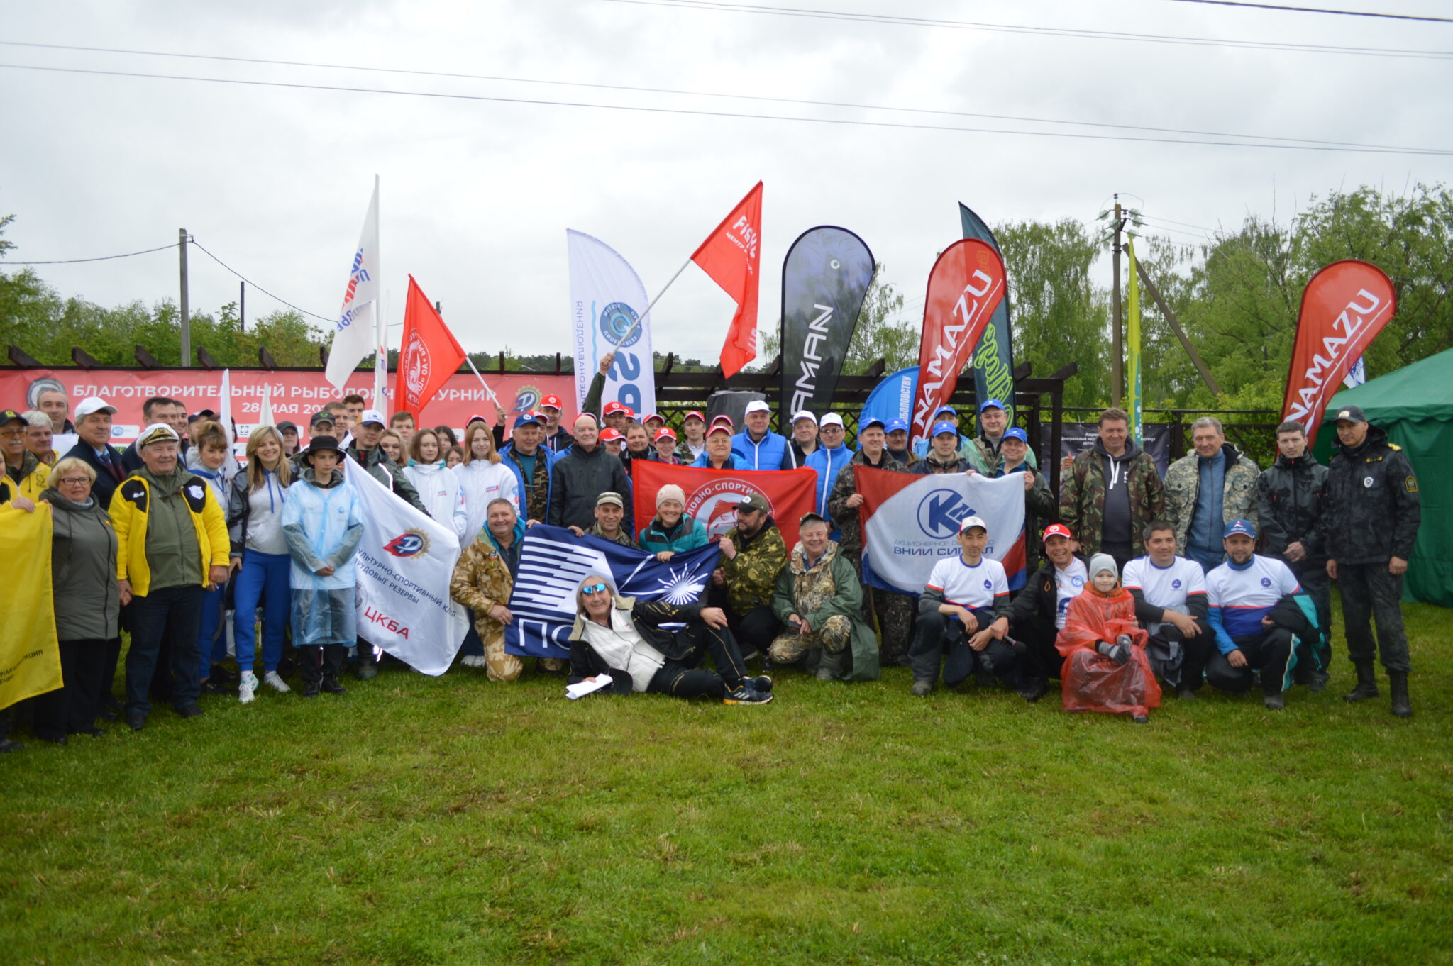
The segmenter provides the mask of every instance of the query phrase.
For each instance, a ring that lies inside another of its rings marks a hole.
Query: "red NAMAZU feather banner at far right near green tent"
[[[1375,264],[1347,259],[1314,275],[1302,291],[1282,418],[1296,420],[1315,440],[1347,370],[1396,311],[1392,282]]]

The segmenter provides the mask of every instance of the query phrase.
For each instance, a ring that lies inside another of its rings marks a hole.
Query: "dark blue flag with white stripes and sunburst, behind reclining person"
[[[536,523],[520,545],[520,571],[510,593],[514,620],[504,629],[504,649],[538,658],[568,658],[575,623],[575,588],[600,574],[622,597],[695,604],[706,593],[721,551],[708,543],[681,551],[670,562],[655,553],[564,527]]]

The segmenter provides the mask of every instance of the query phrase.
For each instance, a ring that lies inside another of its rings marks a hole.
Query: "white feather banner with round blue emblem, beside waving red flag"
[[[618,350],[616,340],[635,325],[648,301],[635,269],[615,248],[590,235],[567,228],[570,250],[571,344],[575,350],[575,405],[584,408],[590,381],[600,368],[600,357],[616,353],[606,373],[600,405],[625,402],[636,418],[655,411],[655,360],[651,354],[651,318],[626,338]]]

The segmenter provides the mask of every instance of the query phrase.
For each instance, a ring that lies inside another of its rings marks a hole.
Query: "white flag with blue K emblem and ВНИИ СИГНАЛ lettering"
[[[959,523],[965,517],[979,517],[988,524],[984,555],[1004,564],[1010,587],[1023,574],[1024,478],[1019,474],[1000,479],[981,474],[917,476],[875,471],[872,475],[872,492],[862,487],[870,514],[863,527],[867,583],[901,594],[921,594],[933,565],[960,552]]]

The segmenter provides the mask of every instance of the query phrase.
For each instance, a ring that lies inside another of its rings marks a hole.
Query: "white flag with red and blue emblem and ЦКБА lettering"
[[[363,506],[355,558],[359,636],[424,674],[443,674],[468,629],[465,609],[449,597],[459,537],[356,462],[344,462],[344,476]]]

